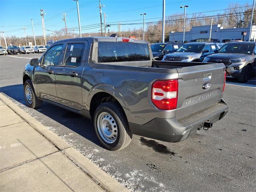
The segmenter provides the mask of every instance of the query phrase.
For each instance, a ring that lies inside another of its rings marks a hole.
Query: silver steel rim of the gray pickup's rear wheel
[[[118,129],[116,120],[107,112],[102,112],[97,118],[97,129],[104,142],[111,144],[116,141]]]

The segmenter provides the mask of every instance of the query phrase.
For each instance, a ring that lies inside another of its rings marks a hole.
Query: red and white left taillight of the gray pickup
[[[152,84],[151,100],[158,109],[177,108],[178,80],[157,80]]]

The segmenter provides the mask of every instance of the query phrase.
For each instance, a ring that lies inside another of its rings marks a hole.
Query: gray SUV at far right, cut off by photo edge
[[[205,57],[203,62],[224,63],[227,76],[238,78],[240,82],[247,82],[250,72],[256,70],[255,44],[255,42],[229,42],[216,54]]]

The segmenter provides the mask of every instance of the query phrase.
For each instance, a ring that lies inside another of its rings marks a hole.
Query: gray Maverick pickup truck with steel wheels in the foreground
[[[133,134],[179,142],[226,115],[224,64],[152,58],[141,40],[60,40],[26,64],[24,97],[31,108],[46,101],[92,119],[108,150]]]

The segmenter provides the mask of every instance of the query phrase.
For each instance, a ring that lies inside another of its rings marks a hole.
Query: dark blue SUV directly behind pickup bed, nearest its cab
[[[151,44],[151,50],[155,60],[162,60],[165,54],[173,53],[183,44],[178,42],[154,43]]]

